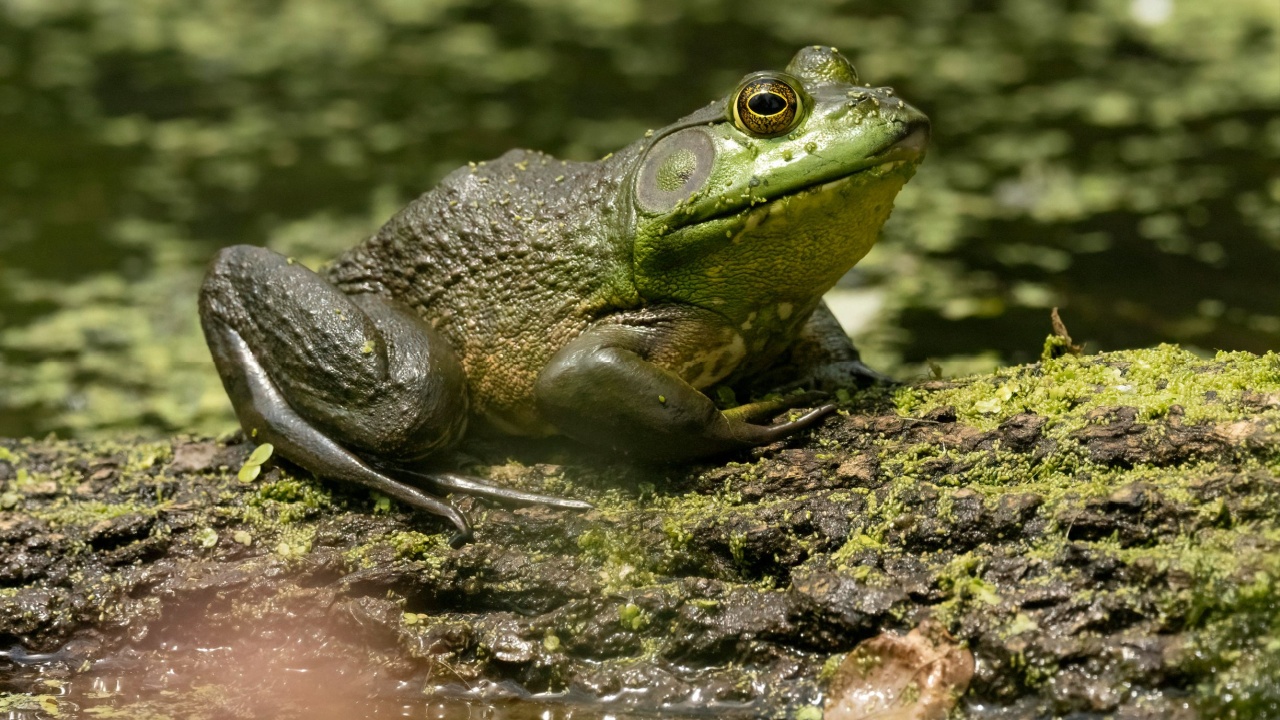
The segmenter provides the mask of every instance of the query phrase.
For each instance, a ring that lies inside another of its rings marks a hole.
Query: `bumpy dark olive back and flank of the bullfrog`
[[[328,278],[417,310],[458,352],[476,413],[507,432],[544,432],[538,373],[591,322],[639,304],[630,243],[612,232],[620,167],[513,150],[461,168]]]

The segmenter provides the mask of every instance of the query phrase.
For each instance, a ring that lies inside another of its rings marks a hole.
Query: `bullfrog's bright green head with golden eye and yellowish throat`
[[[833,47],[746,76],[635,161],[640,295],[737,323],[812,309],[870,250],[928,135],[924,114],[860,85]]]

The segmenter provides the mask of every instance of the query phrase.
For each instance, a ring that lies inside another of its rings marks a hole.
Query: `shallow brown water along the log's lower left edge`
[[[316,648],[247,648],[159,643],[127,647],[105,660],[27,667],[0,664],[0,717],[264,717],[325,720],[646,720],[748,719],[777,708],[654,707],[643,691],[598,698],[584,692],[529,693],[518,685],[440,683],[394,669],[361,667]],[[3,696],[3,693],[24,693]]]

